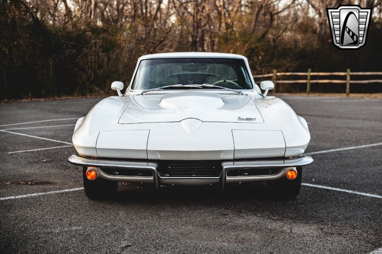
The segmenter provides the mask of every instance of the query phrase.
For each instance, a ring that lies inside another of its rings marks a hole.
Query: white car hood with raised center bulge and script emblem
[[[151,92],[135,95],[119,124],[180,122],[264,122],[251,96],[234,92]]]

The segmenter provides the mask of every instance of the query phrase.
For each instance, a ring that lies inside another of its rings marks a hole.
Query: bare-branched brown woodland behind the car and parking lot
[[[345,4],[372,8],[359,50],[332,44],[326,8]],[[158,52],[238,53],[256,74],[382,71],[381,13],[382,0],[0,0],[0,100],[108,95],[112,81],[128,84],[139,56]]]

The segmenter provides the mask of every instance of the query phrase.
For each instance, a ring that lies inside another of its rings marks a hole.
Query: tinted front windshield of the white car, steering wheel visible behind
[[[210,84],[230,89],[253,88],[243,59],[161,58],[146,59],[139,63],[131,89],[146,90],[177,84]]]

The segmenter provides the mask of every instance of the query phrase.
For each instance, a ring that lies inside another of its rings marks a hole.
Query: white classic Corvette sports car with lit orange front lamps
[[[118,181],[165,185],[227,185],[266,181],[279,198],[294,198],[308,124],[255,84],[248,60],[223,53],[142,56],[125,93],[78,119],[68,161],[83,167],[86,195],[100,199]]]

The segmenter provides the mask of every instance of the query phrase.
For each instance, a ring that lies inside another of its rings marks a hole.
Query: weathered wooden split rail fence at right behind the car
[[[369,83],[382,83],[381,79],[368,79],[368,80],[350,80],[350,76],[379,76],[382,75],[382,72],[350,72],[350,69],[347,69],[346,72],[311,72],[311,69],[308,69],[308,72],[277,72],[273,70],[272,74],[263,74],[263,75],[253,75],[253,78],[264,78],[271,77],[272,81],[275,84],[306,84],[306,93],[310,93],[311,84],[314,83],[334,83],[334,84],[346,84],[346,95],[350,95],[350,84],[369,84]],[[279,80],[278,76],[306,76],[306,79],[303,80]],[[346,76],[346,80],[341,79],[314,79],[311,80],[312,76]]]

